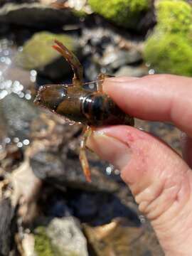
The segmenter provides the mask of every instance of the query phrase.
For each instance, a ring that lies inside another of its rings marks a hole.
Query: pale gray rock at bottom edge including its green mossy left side
[[[35,251],[38,255],[88,255],[80,223],[73,217],[53,218],[47,227],[36,228]]]

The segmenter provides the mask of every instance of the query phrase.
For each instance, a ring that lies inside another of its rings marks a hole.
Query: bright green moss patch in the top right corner
[[[156,4],[157,27],[165,32],[192,31],[192,8],[182,0],[163,0]]]

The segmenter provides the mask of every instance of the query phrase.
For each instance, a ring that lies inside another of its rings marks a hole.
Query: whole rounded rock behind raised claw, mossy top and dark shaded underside
[[[17,65],[26,70],[38,70],[38,73],[53,80],[70,73],[68,62],[51,47],[55,39],[78,55],[80,48],[75,38],[64,34],[40,32],[29,39],[23,50],[16,55]]]

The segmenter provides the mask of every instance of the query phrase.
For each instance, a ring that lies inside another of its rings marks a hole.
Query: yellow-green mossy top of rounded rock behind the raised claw
[[[61,41],[67,48],[75,51],[74,38],[48,32],[36,33],[23,46],[23,51],[16,55],[16,64],[25,69],[41,69],[53,62],[60,54],[51,48],[54,40]]]

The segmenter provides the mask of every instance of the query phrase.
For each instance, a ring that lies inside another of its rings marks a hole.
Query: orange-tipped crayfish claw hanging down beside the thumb
[[[83,130],[83,137],[80,143],[80,164],[82,166],[82,171],[85,175],[86,181],[88,182],[91,182],[91,174],[90,174],[90,166],[87,160],[85,149],[86,149],[87,138],[90,137],[91,133],[92,133],[92,128],[87,126]]]

